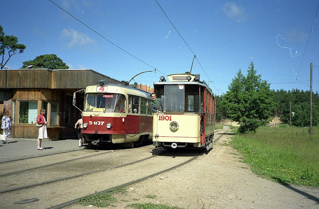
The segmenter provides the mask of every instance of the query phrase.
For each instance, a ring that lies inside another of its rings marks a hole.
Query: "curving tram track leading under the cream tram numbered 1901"
[[[220,137],[221,136],[215,141]],[[145,149],[149,149],[149,147],[150,146]],[[135,148],[124,150],[124,152],[132,152],[131,155],[126,155],[126,158],[131,159],[132,156],[140,156],[142,150],[143,148]],[[23,208],[63,208],[78,203],[84,197],[136,184],[161,173],[176,169],[192,162],[205,152],[206,150],[201,153],[195,153],[195,156],[194,153],[191,153],[188,156],[176,157],[175,155],[173,157],[173,154],[165,153],[165,155],[159,158],[154,158],[157,155],[149,156],[148,154],[148,157],[126,164],[122,163],[122,165],[104,169],[99,168],[95,169],[95,171],[82,172],[81,174],[72,176],[68,175],[68,178],[55,178],[54,181],[52,179],[51,181],[41,180],[41,182],[35,184],[12,187],[8,190],[0,191],[0,202],[5,203],[3,205],[4,208],[21,208],[21,205],[13,205],[13,203],[17,202],[17,200],[27,200],[36,197],[38,201],[25,204]],[[118,156],[119,153],[113,154],[114,156]],[[101,156],[102,155],[99,155],[99,157]],[[123,156],[119,156],[119,158],[120,157]],[[75,165],[75,167],[78,165],[79,164]],[[147,172],[145,172],[145,170]],[[33,173],[33,175],[36,176],[36,173]],[[30,177],[25,177],[25,179],[29,178]],[[40,178],[40,176],[37,178]],[[0,181],[2,181],[2,179],[3,178],[0,178]]]

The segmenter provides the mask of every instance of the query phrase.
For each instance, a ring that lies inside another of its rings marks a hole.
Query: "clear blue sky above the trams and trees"
[[[287,91],[310,89],[313,63],[319,92],[318,0],[157,0],[188,46],[155,0],[52,1],[103,37],[49,0],[2,0],[5,35],[26,45],[6,66],[56,54],[70,69],[120,81],[156,68],[134,78],[152,86],[162,75],[190,71],[195,53],[192,73],[217,95],[251,62],[271,89]]]

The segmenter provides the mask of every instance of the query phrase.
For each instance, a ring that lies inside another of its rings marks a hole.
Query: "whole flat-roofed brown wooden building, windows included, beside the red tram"
[[[120,81],[93,70],[17,69],[0,70],[0,116],[9,110],[11,138],[38,136],[35,126],[40,109],[46,109],[47,131],[51,140],[76,138],[75,122],[81,112],[73,106],[73,93],[99,80]],[[84,94],[76,96],[83,108]]]

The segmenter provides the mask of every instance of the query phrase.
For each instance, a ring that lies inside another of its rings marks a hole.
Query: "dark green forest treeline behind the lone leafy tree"
[[[294,126],[310,126],[310,91],[293,89],[289,91],[272,90],[276,103],[273,116],[279,116],[281,121]],[[227,119],[226,111],[221,105],[224,96],[216,96],[216,121]],[[319,124],[319,93],[313,93],[313,125]]]

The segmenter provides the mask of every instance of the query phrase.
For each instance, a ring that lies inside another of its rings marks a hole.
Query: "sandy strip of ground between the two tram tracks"
[[[149,157],[149,154],[145,151],[144,154],[143,151],[133,154],[127,154],[126,150],[121,151],[122,152],[109,151],[100,154],[88,155],[62,162],[51,163],[45,166],[39,166],[37,168],[29,168],[23,171],[12,172],[10,175],[2,175],[0,178],[0,194],[103,172],[137,163],[155,156]],[[140,157],[134,158],[134,155],[145,155],[147,157],[140,159]],[[123,159],[119,159],[117,162],[114,162],[116,160],[116,157],[114,156],[118,156]],[[113,166],[114,164],[115,166]],[[27,179],[27,181],[25,179]],[[11,183],[12,180],[14,181],[13,183]],[[25,185],[25,182],[28,182],[29,184]]]

